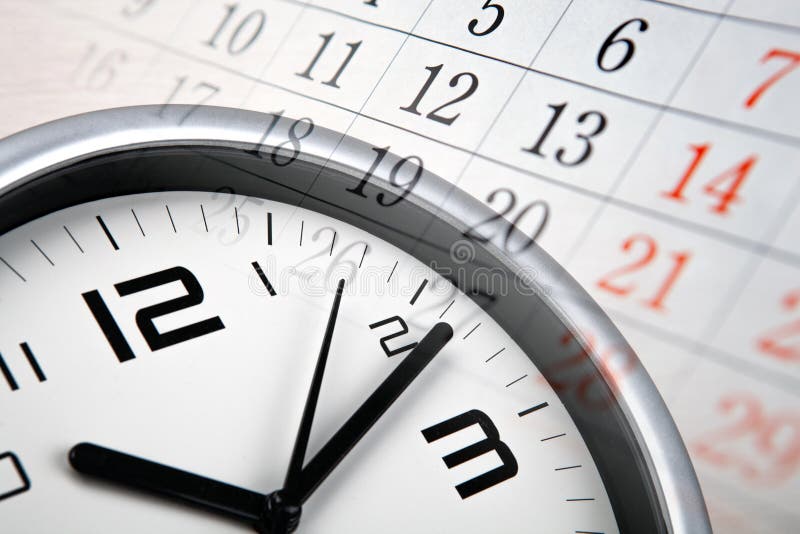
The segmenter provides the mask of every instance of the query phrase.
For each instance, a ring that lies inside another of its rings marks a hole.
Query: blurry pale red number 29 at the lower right
[[[717,411],[729,422],[708,432],[692,446],[696,457],[733,469],[748,481],[778,484],[800,466],[800,416],[766,414],[749,394],[723,397]]]

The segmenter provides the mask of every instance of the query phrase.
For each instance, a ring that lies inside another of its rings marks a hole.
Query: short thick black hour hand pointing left
[[[248,525],[259,521],[267,499],[255,491],[92,443],[75,445],[69,451],[69,462],[85,475],[168,497]]]

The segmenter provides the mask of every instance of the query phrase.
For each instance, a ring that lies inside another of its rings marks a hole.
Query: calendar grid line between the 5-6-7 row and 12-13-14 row
[[[284,2],[284,3],[288,3],[288,4],[296,4],[298,0],[280,0],[280,1]],[[543,71],[543,70],[536,69],[536,68],[533,68],[533,67],[526,67],[525,65],[522,65],[520,63],[515,63],[513,61],[509,61],[509,60],[506,60],[506,59],[503,59],[503,58],[500,58],[500,57],[497,57],[497,56],[491,56],[491,55],[488,55],[488,54],[483,54],[481,52],[476,52],[476,51],[470,50],[468,48],[463,48],[463,47],[460,47],[460,46],[457,46],[457,45],[454,45],[454,44],[450,44],[450,43],[447,43],[447,42],[444,42],[444,41],[439,41],[439,40],[436,40],[436,39],[432,39],[430,37],[424,37],[422,35],[412,34],[412,33],[406,32],[404,30],[401,30],[399,28],[393,28],[391,26],[386,26],[384,24],[380,24],[380,23],[377,23],[377,22],[372,22],[372,21],[369,21],[369,20],[360,19],[358,17],[354,17],[354,16],[349,15],[347,13],[341,13],[341,12],[336,11],[336,10],[331,9],[331,8],[326,8],[326,7],[323,7],[323,6],[316,6],[314,4],[310,4],[308,7],[311,8],[311,9],[324,11],[326,13],[330,13],[330,14],[333,14],[333,15],[339,15],[341,17],[344,17],[344,18],[347,18],[347,19],[350,19],[350,20],[353,20],[353,21],[361,22],[361,23],[364,23],[364,24],[369,25],[369,26],[374,26],[374,27],[377,27],[377,28],[382,28],[382,29],[393,31],[393,32],[397,32],[397,33],[408,34],[411,37],[413,37],[415,39],[418,39],[418,40],[421,40],[421,41],[426,41],[426,42],[429,42],[429,43],[432,43],[432,44],[443,46],[445,48],[458,50],[459,52],[464,52],[464,53],[467,53],[467,54],[471,54],[473,56],[477,56],[477,57],[481,57],[481,58],[484,58],[484,59],[488,59],[490,61],[495,61],[495,62],[498,62],[498,63],[502,63],[502,64],[507,65],[509,67],[523,69],[523,70],[526,70],[526,71],[529,71],[529,72],[532,72],[532,73],[535,73],[535,74],[539,74],[539,75],[545,76],[547,78],[551,78],[551,79],[554,79],[554,80],[559,80],[559,81],[562,81],[562,82],[570,84],[570,85],[576,85],[576,86],[582,87],[584,89],[589,89],[589,90],[594,91],[594,92],[603,93],[603,94],[608,95],[608,96],[612,96],[612,97],[619,98],[621,100],[626,100],[626,101],[629,101],[629,102],[640,104],[642,106],[646,106],[646,107],[649,107],[649,108],[661,109],[664,106],[664,104],[660,103],[660,102],[656,102],[656,101],[653,101],[653,100],[647,100],[645,98],[641,98],[641,97],[637,97],[637,96],[621,93],[621,92],[618,92],[618,91],[613,91],[611,89],[607,89],[607,88],[604,88],[604,87],[593,85],[593,84],[590,84],[590,83],[587,83],[587,82],[582,82],[580,80],[575,80],[575,79],[572,79],[572,78],[568,78],[566,76],[561,76],[559,74]],[[776,132],[776,131],[772,131],[772,130],[767,130],[767,129],[764,129],[764,128],[760,128],[758,126],[753,126],[753,125],[750,125],[750,124],[745,124],[745,123],[733,121],[733,120],[730,120],[730,119],[724,119],[724,118],[721,118],[721,117],[715,117],[713,115],[708,115],[708,114],[705,114],[705,113],[700,113],[698,111],[679,108],[679,107],[675,107],[675,106],[667,106],[666,109],[668,111],[670,111],[670,112],[675,113],[675,114],[678,114],[678,115],[681,115],[681,116],[685,116],[685,117],[689,117],[689,118],[702,120],[702,121],[708,122],[709,124],[725,126],[727,128],[735,129],[735,130],[738,130],[738,131],[741,131],[741,132],[755,133],[756,135],[759,135],[760,137],[764,137],[766,139],[770,139],[772,141],[775,141],[775,142],[778,142],[778,143],[782,143],[782,144],[787,144],[787,145],[792,145],[792,146],[800,146],[800,136],[798,136],[798,135],[792,135],[792,134],[786,134],[786,133],[782,133],[782,132]]]

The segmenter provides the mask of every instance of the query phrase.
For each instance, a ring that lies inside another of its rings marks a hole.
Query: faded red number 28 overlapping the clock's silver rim
[[[561,361],[543,369],[550,386],[557,392],[572,391],[587,409],[605,410],[613,403],[607,388],[595,372],[596,365],[615,393],[620,381],[635,367],[636,355],[630,347],[605,347],[597,350],[597,340],[584,332],[586,345],[578,341],[570,331],[561,336],[561,345],[575,352]],[[597,354],[596,363],[589,356]]]

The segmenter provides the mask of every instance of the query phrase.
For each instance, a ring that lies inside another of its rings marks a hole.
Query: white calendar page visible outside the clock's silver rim
[[[419,158],[604,307],[715,531],[797,531],[797,2],[5,0],[0,21],[0,136],[208,104]]]

